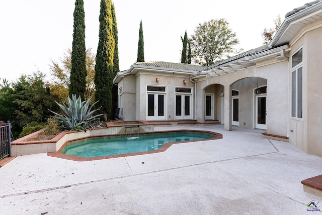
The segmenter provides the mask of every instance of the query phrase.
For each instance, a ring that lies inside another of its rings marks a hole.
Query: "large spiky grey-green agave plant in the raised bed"
[[[69,96],[67,97],[68,106],[56,101],[60,108],[65,112],[65,115],[60,115],[53,111],[51,112],[56,114],[56,118],[69,129],[79,130],[79,128],[84,128],[89,122],[96,120],[97,117],[102,116],[102,114],[93,116],[93,113],[100,110],[100,108],[92,111],[92,108],[97,101],[90,106],[91,98],[92,96],[87,101],[82,101],[81,96],[76,98],[76,95],[72,94],[71,98]]]

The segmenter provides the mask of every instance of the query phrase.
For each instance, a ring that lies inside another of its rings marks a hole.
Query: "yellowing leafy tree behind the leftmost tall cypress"
[[[68,49],[59,61],[51,60],[50,65],[51,75],[53,76],[50,82],[50,91],[53,95],[58,96],[58,102],[66,102],[68,96],[68,85],[71,70],[71,49]],[[95,54],[92,49],[86,49],[86,91],[85,99],[94,96],[95,93]]]

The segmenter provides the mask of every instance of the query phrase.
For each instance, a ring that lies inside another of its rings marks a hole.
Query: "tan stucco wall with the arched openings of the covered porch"
[[[252,77],[253,82],[250,77]],[[265,60],[259,63],[259,67],[253,66],[240,69],[228,74],[215,77],[208,77],[197,84],[197,120],[204,121],[205,94],[213,90],[218,94],[220,87],[215,90],[212,84],[224,85],[225,91],[225,119],[227,124],[231,120],[229,102],[229,89],[239,90],[239,127],[255,128],[255,100],[253,89],[257,87],[257,77],[259,86],[267,85],[267,133],[287,136],[288,130],[288,61],[286,60]],[[254,83],[255,82],[255,83]],[[219,99],[216,99],[217,102]],[[217,103],[217,116],[221,120],[221,100]],[[245,125],[244,125],[245,123]]]

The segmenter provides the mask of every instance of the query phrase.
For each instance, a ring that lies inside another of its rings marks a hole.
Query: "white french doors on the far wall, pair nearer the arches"
[[[191,95],[176,94],[176,120],[191,119]]]

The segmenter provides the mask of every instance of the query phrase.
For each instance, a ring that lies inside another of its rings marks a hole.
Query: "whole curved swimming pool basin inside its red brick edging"
[[[217,133],[179,130],[126,135],[96,136],[67,142],[61,154],[82,158],[121,157],[165,151],[172,144],[217,139]]]

